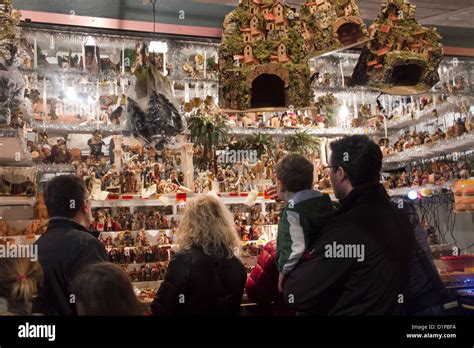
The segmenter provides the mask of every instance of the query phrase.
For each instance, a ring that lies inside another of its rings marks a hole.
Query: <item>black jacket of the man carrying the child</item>
[[[403,314],[413,236],[407,214],[382,185],[357,187],[288,276],[285,298],[306,314]]]

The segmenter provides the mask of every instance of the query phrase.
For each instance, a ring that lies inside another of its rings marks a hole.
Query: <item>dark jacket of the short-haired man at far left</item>
[[[44,271],[37,310],[47,315],[73,315],[71,281],[82,267],[107,261],[104,246],[85,227],[67,218],[50,219],[36,244]]]

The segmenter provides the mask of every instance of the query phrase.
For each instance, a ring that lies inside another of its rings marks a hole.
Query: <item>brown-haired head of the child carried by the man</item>
[[[275,166],[278,197],[286,201],[288,193],[313,187],[313,164],[301,155],[290,153]]]

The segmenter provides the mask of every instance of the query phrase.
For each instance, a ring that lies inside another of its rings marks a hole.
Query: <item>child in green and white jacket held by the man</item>
[[[296,267],[334,208],[331,198],[313,190],[313,165],[289,154],[276,165],[276,193],[286,205],[280,215],[277,237],[278,289]]]

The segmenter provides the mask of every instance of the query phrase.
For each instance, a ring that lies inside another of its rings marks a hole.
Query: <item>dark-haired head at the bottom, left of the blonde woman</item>
[[[144,315],[128,275],[108,262],[84,267],[72,282],[78,315]]]

